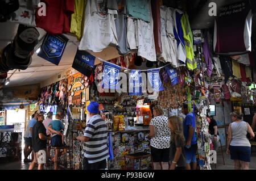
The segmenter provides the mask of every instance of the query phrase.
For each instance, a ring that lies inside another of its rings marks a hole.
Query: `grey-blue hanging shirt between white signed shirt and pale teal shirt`
[[[126,0],[117,0],[118,17],[115,19],[115,28],[117,29],[118,45],[117,50],[119,54],[127,54],[130,52],[127,40],[127,14]]]

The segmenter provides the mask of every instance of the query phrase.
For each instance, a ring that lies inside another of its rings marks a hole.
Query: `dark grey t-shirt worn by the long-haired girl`
[[[174,136],[172,135],[170,145],[171,145],[170,161],[172,162],[174,160],[176,148],[181,147],[181,154],[180,154],[179,161],[177,161],[177,166],[185,167],[186,166],[185,150],[184,150],[185,142],[183,142],[179,136],[177,136],[177,139],[175,139]]]

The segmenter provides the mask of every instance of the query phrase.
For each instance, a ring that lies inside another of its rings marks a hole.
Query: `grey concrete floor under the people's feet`
[[[218,151],[217,165],[215,168],[214,164],[212,164],[212,170],[233,170],[234,169],[234,163],[232,159],[230,159],[230,155],[227,155],[226,153],[223,153],[223,154],[224,154],[225,165],[223,164],[221,151]],[[27,170],[29,165],[30,163],[24,163],[22,158],[22,161],[0,163],[0,170]],[[37,169],[37,167],[35,167],[35,169]],[[49,170],[49,168],[47,168],[47,170]],[[256,170],[256,151],[254,151],[253,154],[251,155],[250,170]]]

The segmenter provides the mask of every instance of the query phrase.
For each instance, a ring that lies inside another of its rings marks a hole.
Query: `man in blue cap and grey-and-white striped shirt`
[[[106,169],[106,159],[109,158],[108,127],[99,115],[99,105],[91,102],[87,107],[88,123],[84,136],[76,137],[82,141],[82,169],[100,170]]]

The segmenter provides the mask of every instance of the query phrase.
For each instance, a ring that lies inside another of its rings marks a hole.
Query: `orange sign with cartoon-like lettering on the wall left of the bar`
[[[70,92],[69,96],[72,97],[69,104],[73,103],[79,105],[82,102],[82,92],[85,91],[84,84],[84,75],[81,73],[73,74],[68,78],[68,91]]]

